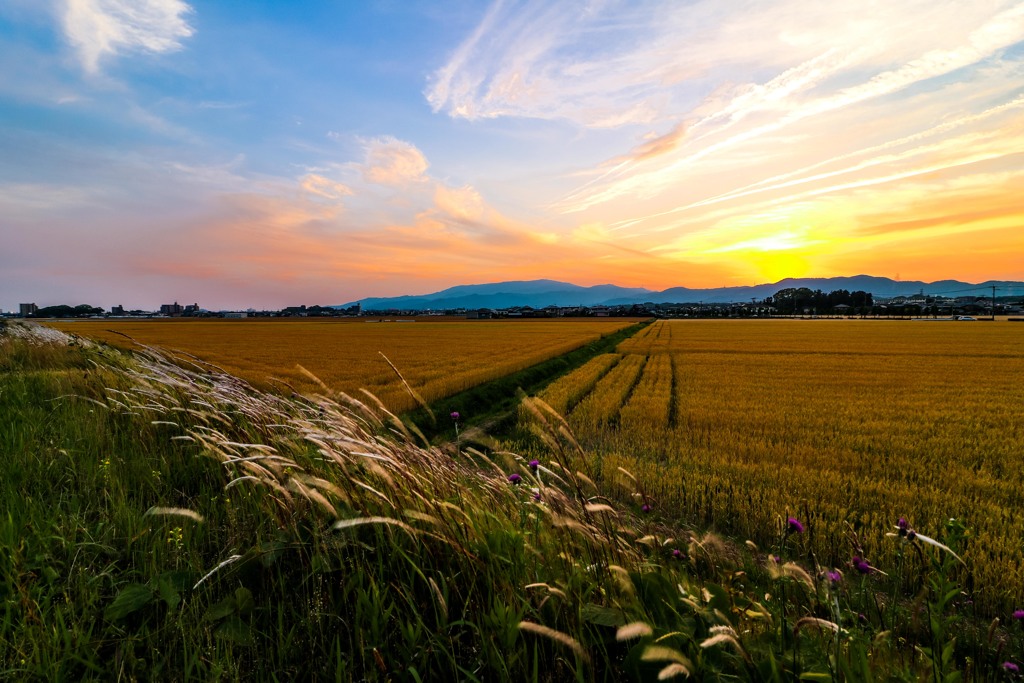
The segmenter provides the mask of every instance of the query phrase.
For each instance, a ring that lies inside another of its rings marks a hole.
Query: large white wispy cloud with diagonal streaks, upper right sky
[[[1024,4],[1009,0],[781,0],[742,7],[608,0],[585,8],[507,0],[433,75],[427,97],[435,111],[457,118],[558,119],[584,129],[622,128],[634,139],[644,134],[648,141],[594,168],[591,180],[552,208],[575,213],[631,203],[635,211],[646,204],[654,217],[671,212],[664,204],[673,195],[686,200],[677,207],[734,199],[759,191],[751,188],[770,184],[767,178],[779,171],[799,178],[799,169],[857,146],[885,147],[879,137],[895,146],[915,130],[938,132],[936,116],[971,121],[981,108],[913,97],[941,92],[951,80],[983,82],[982,67],[1021,41]],[[1005,80],[992,92],[995,101],[1019,94]],[[876,130],[862,128],[863,140],[838,134],[858,116],[877,116],[874,102],[898,98],[920,110],[916,120],[889,101],[898,114]],[[940,106],[946,111],[937,114]],[[856,170],[897,159],[879,157]],[[774,167],[759,177],[763,171],[754,169],[769,160]],[[808,174],[804,181],[813,179]],[[622,220],[635,224],[635,218]]]

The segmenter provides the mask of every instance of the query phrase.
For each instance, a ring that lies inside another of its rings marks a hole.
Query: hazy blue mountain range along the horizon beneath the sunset
[[[957,280],[940,280],[934,283],[896,281],[872,275],[846,278],[786,278],[777,283],[744,287],[718,287],[690,289],[672,287],[660,292],[643,288],[595,285],[581,287],[554,280],[530,280],[485,285],[460,285],[433,294],[419,296],[371,297],[350,301],[336,308],[359,304],[362,310],[442,310],[451,308],[511,308],[513,306],[618,306],[634,303],[734,303],[751,299],[764,299],[779,290],[806,287],[810,290],[833,292],[870,292],[876,298],[911,296],[924,293],[929,296],[986,296],[992,287],[996,296],[1024,296],[1024,283],[1013,281],[986,281],[964,283]]]

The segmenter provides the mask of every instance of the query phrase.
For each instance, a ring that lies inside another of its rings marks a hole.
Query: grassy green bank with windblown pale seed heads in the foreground
[[[0,339],[0,679],[994,681],[1021,658],[1024,623],[964,644],[948,554],[907,545],[921,592],[880,616],[881,575],[807,583],[785,536],[773,575],[642,512],[650,482],[599,490],[536,402],[535,471],[50,337]]]

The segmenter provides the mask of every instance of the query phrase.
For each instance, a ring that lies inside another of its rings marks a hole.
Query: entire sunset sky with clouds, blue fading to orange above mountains
[[[1024,3],[3,0],[0,309],[1024,280]]]

